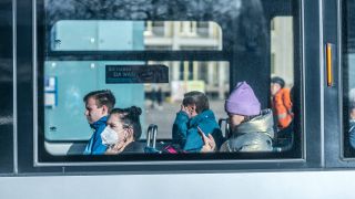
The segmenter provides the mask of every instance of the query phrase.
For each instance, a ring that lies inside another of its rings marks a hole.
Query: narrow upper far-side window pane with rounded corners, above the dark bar
[[[221,50],[221,27],[213,21],[62,20],[51,30],[51,50]]]

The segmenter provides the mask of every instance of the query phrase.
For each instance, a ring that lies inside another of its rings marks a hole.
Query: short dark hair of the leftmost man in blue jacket
[[[109,112],[111,112],[111,109],[114,107],[115,98],[110,90],[90,92],[84,96],[83,102],[88,103],[88,100],[90,97],[93,97],[97,101],[98,107],[102,107],[102,105],[105,105],[108,106]]]

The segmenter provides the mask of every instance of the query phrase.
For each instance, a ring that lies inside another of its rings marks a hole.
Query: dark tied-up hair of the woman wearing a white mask
[[[110,115],[116,114],[119,118],[123,122],[124,126],[130,126],[133,128],[134,140],[140,139],[142,135],[142,126],[140,122],[140,115],[142,109],[136,106],[131,106],[128,108],[113,108]]]

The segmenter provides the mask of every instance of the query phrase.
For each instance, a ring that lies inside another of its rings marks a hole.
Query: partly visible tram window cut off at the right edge
[[[343,112],[344,112],[344,155],[355,157],[355,2],[344,2],[343,31]]]

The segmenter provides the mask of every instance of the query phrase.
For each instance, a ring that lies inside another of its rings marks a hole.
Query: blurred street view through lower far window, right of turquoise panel
[[[172,126],[185,93],[200,91],[206,94],[210,108],[216,118],[224,118],[224,100],[229,92],[229,62],[149,62],[170,67],[169,84],[145,84],[145,124],[159,126],[158,138],[171,139]],[[192,65],[192,70],[189,70]],[[217,70],[216,70],[217,69]],[[205,71],[205,73],[200,73]],[[191,75],[190,75],[191,74]]]

